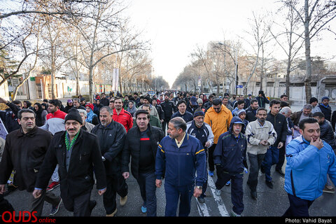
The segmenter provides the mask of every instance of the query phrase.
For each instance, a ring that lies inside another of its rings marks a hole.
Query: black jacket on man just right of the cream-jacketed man
[[[274,147],[277,147],[281,141],[283,144],[286,143],[287,138],[287,120],[286,117],[281,113],[277,113],[276,116],[272,115],[271,112],[267,113],[267,118],[270,123],[272,123],[274,130],[276,132],[276,140],[273,144]]]

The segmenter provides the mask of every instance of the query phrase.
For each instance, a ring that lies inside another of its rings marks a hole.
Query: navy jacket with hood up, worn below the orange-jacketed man
[[[240,133],[237,138],[232,134],[232,124],[238,119],[241,120],[237,117],[232,118],[229,131],[221,134],[213,154],[214,164],[221,164],[223,171],[230,174],[244,172],[246,164],[247,139],[244,134]]]

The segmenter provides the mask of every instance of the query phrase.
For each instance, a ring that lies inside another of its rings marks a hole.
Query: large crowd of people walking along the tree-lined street
[[[216,195],[231,185],[231,214],[241,216],[244,172],[257,200],[258,173],[273,188],[273,165],[285,178],[290,207],[284,216],[309,216],[317,197],[335,192],[336,111],[328,97],[320,103],[312,97],[300,111],[290,109],[286,94],[269,100],[262,90],[254,98],[165,91],[102,93],[87,101],[80,96],[66,105],[52,99],[31,106],[0,98],[8,106],[0,111],[8,131],[0,138],[3,208],[13,209],[3,195],[19,189],[29,192],[29,210],[37,216],[44,201],[52,204],[50,215],[63,202],[73,216],[90,216],[96,185],[106,216],[115,216],[116,195],[121,206],[127,202],[131,172],[143,213],[157,215],[155,190],[164,183],[165,216],[176,216],[178,205],[179,216],[188,216],[192,196],[205,202],[208,176],[216,171]],[[58,186],[59,196],[52,193]]]

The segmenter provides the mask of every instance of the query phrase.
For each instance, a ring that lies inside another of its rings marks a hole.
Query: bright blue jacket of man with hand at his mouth
[[[303,200],[315,200],[323,193],[327,174],[336,183],[336,160],[332,148],[323,141],[318,150],[302,137],[286,146],[285,190]]]

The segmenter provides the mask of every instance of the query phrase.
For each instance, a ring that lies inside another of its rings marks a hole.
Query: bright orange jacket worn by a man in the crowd
[[[214,144],[217,144],[218,138],[224,132],[228,132],[232,119],[232,113],[226,106],[222,105],[221,112],[217,113],[214,108],[208,109],[205,113],[204,122],[211,126],[214,132]]]

